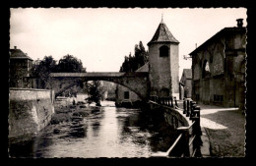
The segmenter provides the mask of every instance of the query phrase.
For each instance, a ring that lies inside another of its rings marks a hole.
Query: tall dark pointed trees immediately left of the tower
[[[149,53],[145,50],[142,41],[135,45],[134,56],[124,57],[124,62],[120,67],[120,72],[135,72],[149,61]]]

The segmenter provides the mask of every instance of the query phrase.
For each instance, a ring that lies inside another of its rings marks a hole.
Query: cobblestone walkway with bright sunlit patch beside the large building
[[[181,104],[179,104],[181,108]],[[199,104],[201,127],[206,129],[212,157],[245,156],[245,116],[237,108]]]

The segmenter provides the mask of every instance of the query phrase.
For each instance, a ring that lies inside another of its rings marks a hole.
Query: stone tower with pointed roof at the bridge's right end
[[[179,41],[161,20],[149,46],[151,95],[179,96]]]

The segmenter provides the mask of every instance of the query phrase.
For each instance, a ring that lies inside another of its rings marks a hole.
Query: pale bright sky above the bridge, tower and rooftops
[[[147,43],[164,24],[179,43],[179,77],[191,68],[184,60],[196,45],[223,28],[236,27],[246,8],[11,8],[10,48],[33,60],[51,55],[56,61],[70,54],[87,72],[118,72],[135,44]]]

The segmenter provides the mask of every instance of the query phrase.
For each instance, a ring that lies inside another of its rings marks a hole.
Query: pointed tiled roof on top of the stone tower
[[[161,22],[159,28],[155,32],[153,38],[148,43],[148,45],[155,43],[155,42],[172,42],[172,43],[179,43],[179,41],[171,34],[169,29],[166,25]]]

